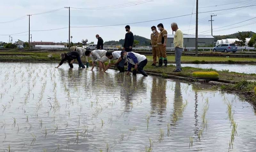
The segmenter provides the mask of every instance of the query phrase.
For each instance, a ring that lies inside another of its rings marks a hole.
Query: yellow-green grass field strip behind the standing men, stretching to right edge
[[[149,61],[153,61],[152,56],[146,56]],[[174,62],[174,56],[167,56],[169,62]],[[227,58],[227,57],[195,57],[195,56],[182,56],[181,62],[256,62],[255,58]]]

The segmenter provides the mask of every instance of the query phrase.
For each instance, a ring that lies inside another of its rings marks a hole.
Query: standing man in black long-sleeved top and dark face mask
[[[129,25],[125,26],[125,31],[127,33],[125,34],[125,38],[124,38],[124,50],[126,52],[132,52],[134,37],[133,37],[133,33],[130,31]]]

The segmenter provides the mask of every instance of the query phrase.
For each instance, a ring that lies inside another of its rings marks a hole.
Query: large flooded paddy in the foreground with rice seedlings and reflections
[[[57,63],[0,65],[0,151],[145,151],[150,140],[153,151],[256,151],[255,110],[208,85]],[[228,105],[237,124],[230,148]]]

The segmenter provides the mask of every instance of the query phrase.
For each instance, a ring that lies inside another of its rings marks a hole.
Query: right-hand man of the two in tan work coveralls
[[[162,23],[157,25],[159,31],[161,31],[157,37],[157,45],[159,49],[159,64],[157,67],[162,67],[164,62],[164,67],[167,67],[167,55],[166,55],[166,42],[167,42],[167,31],[164,29]]]

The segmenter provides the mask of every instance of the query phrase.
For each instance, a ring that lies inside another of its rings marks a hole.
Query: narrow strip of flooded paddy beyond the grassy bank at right
[[[256,64],[181,64],[181,66],[194,68],[213,68],[218,71],[228,70],[229,72],[256,74]]]

